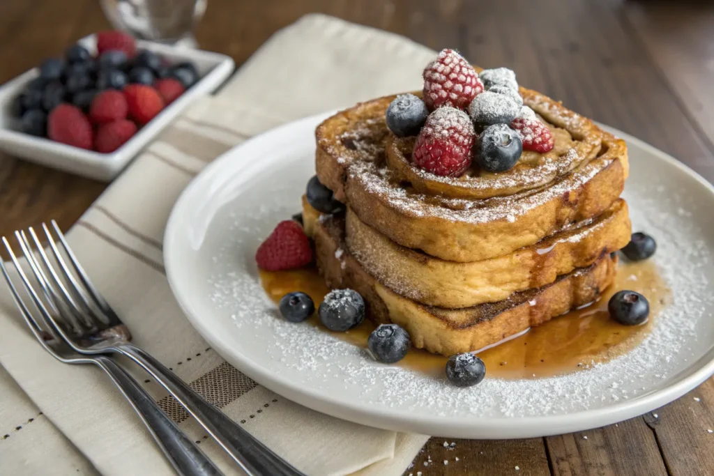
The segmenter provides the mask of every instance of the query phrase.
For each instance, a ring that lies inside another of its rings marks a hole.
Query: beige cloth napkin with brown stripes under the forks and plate
[[[164,226],[186,184],[224,151],[294,118],[418,88],[432,56],[399,36],[306,16],[274,35],[216,96],[174,121],[68,233],[135,342],[308,475],[401,475],[428,437],[313,412],[228,365],[191,328],[169,290]],[[106,375],[44,353],[4,285],[0,363],[0,474],[171,474]],[[240,474],[175,400],[131,370],[226,474]]]

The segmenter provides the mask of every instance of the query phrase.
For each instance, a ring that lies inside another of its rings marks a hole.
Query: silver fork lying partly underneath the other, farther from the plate
[[[58,332],[59,328],[54,320],[54,315],[46,308],[32,287],[6,238],[3,237],[2,240],[10,253],[11,260],[18,271],[25,290],[34,303],[34,308],[39,310],[39,316],[31,313],[29,306],[26,305],[24,300],[20,297],[1,259],[0,270],[7,281],[12,297],[22,317],[40,345],[60,362],[69,364],[94,364],[104,370],[114,384],[119,387],[119,390],[124,394],[126,400],[129,400],[131,406],[134,407],[134,411],[141,417],[146,427],[149,428],[149,432],[151,432],[151,435],[154,437],[154,440],[156,440],[161,451],[164,452],[164,455],[166,455],[166,458],[168,458],[174,470],[176,470],[179,475],[221,475],[222,473],[213,465],[211,460],[208,460],[208,457],[198,449],[198,446],[178,429],[176,424],[161,410],[161,407],[154,402],[151,395],[146,393],[146,390],[141,388],[141,385],[139,385],[129,373],[126,373],[126,370],[104,355],[81,355],[76,353],[62,340],[61,333]],[[55,313],[58,312],[53,305],[50,305],[50,307],[53,308],[52,310],[54,310]]]

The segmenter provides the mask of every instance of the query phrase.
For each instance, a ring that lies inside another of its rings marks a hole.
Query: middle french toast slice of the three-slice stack
[[[309,207],[304,203],[303,208]],[[347,208],[347,249],[367,273],[399,295],[442,308],[494,303],[540,288],[559,275],[593,264],[630,241],[627,204],[620,199],[597,218],[568,226],[535,245],[497,258],[458,263],[404,248]]]

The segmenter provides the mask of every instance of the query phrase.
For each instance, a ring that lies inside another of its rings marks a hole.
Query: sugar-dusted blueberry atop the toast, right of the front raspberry
[[[482,93],[483,94],[483,93]],[[523,152],[521,136],[506,124],[488,126],[476,143],[476,163],[488,172],[507,171]]]

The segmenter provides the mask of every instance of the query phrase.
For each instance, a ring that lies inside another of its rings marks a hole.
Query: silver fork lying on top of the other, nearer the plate
[[[117,353],[134,360],[196,418],[248,475],[305,476],[226,417],[221,410],[206,402],[159,360],[133,345],[126,325],[92,285],[55,221],[51,224],[59,238],[59,245],[69,258],[71,268],[46,224],[43,223],[42,228],[56,267],[51,263],[33,228],[29,228],[29,235],[34,241],[39,259],[32,253],[32,246],[24,231],[16,231],[15,236],[44,293],[56,308],[64,308],[70,316],[68,321],[71,325],[66,328],[57,326],[57,332],[74,351],[85,355]],[[59,273],[56,268],[59,268]]]

